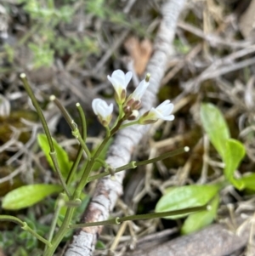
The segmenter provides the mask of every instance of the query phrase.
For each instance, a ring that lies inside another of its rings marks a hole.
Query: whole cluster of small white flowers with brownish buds
[[[122,121],[136,120],[136,123],[139,124],[153,123],[158,119],[173,121],[173,103],[170,103],[170,100],[165,100],[161,105],[151,108],[150,111],[145,112],[139,117],[138,110],[142,105],[141,98],[149,86],[150,76],[147,75],[133,91],[133,94],[127,97],[127,84],[132,79],[132,76],[133,74],[130,71],[125,74],[121,70],[116,70],[112,73],[111,77],[107,77],[115,90],[115,100],[117,105],[119,105]],[[99,122],[108,127],[111,122],[113,105],[107,105],[105,100],[95,99],[92,102],[92,107],[95,115],[99,118]]]

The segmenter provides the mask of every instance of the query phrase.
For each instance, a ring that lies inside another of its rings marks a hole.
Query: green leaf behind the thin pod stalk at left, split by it
[[[57,156],[58,163],[59,163],[60,172],[63,175],[63,177],[66,179],[70,172],[72,162],[69,161],[68,155],[65,152],[65,150],[58,144],[58,142],[54,138],[52,138],[52,139],[53,139],[54,149],[55,149],[56,156]],[[47,139],[46,135],[38,134],[37,141],[38,141],[38,144],[40,145],[44,155],[46,156],[48,164],[50,165],[50,167],[53,170],[55,170],[54,163],[52,162],[51,157],[49,155],[50,149],[49,149],[48,139]]]

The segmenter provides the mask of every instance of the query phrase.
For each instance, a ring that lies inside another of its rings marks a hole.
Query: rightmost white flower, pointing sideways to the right
[[[173,111],[173,103],[170,100],[165,100],[158,105],[156,108],[151,108],[150,111],[144,113],[142,117],[139,118],[140,124],[148,124],[156,122],[158,119],[173,121],[174,116],[171,115]]]

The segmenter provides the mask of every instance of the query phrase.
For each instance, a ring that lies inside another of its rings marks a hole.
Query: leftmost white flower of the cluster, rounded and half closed
[[[108,126],[111,122],[113,104],[107,105],[105,100],[94,99],[92,101],[92,108],[95,115],[99,117],[99,122],[104,126]]]

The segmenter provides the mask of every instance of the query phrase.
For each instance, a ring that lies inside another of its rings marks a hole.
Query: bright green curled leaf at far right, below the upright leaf
[[[228,139],[226,142],[226,151],[224,154],[224,175],[237,189],[243,188],[241,179],[234,178],[234,172],[238,168],[241,160],[246,154],[244,145],[236,139]]]

